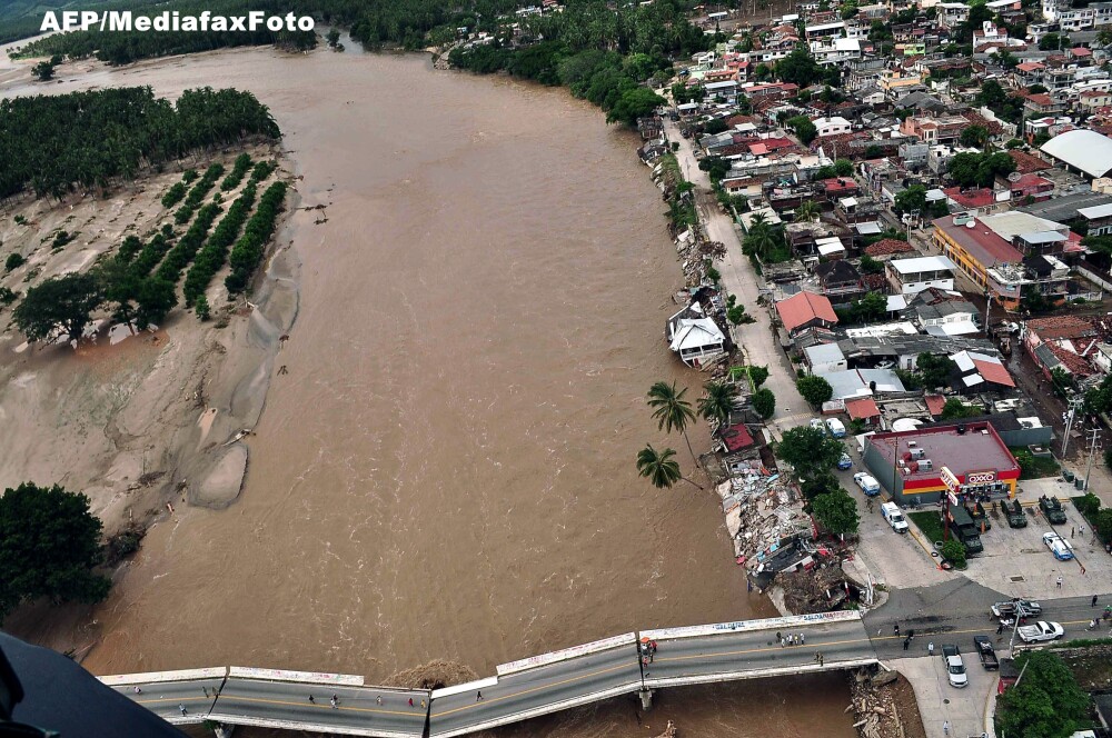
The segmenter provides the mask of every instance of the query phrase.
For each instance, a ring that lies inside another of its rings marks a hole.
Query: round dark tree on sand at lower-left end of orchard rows
[[[23,301],[12,311],[12,319],[29,341],[48,339],[56,331],[76,341],[101,300],[101,286],[93,275],[64,275],[27,290]]]

